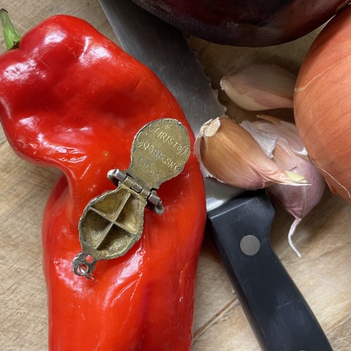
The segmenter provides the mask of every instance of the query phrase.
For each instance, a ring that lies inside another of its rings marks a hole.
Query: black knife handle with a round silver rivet
[[[208,212],[211,234],[234,291],[263,350],[332,350],[270,246],[273,218],[265,192],[247,192]]]

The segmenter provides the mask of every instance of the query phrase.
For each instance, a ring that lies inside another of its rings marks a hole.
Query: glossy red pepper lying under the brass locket
[[[161,185],[164,214],[145,210],[140,241],[78,277],[78,223],[93,197],[114,189],[147,122],[184,114],[161,81],[91,25],[66,15],[25,34],[0,57],[0,117],[20,157],[63,175],[44,211],[50,350],[190,350],[197,257],[206,218],[192,153]],[[35,321],[34,321],[35,322]]]

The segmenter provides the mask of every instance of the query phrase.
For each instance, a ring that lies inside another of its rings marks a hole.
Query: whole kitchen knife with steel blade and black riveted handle
[[[185,36],[131,0],[99,0],[121,47],[152,69],[183,107],[194,133],[224,108]],[[332,350],[270,246],[274,208],[263,190],[204,179],[213,240],[263,350]]]

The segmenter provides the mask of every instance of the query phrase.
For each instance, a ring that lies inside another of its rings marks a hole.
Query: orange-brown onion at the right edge
[[[351,204],[351,6],[314,40],[298,73],[294,117],[334,194]]]

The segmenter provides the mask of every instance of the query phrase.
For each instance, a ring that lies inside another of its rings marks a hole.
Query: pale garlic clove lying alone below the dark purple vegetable
[[[249,111],[293,108],[296,75],[277,65],[250,65],[228,74],[220,86],[239,107]]]

